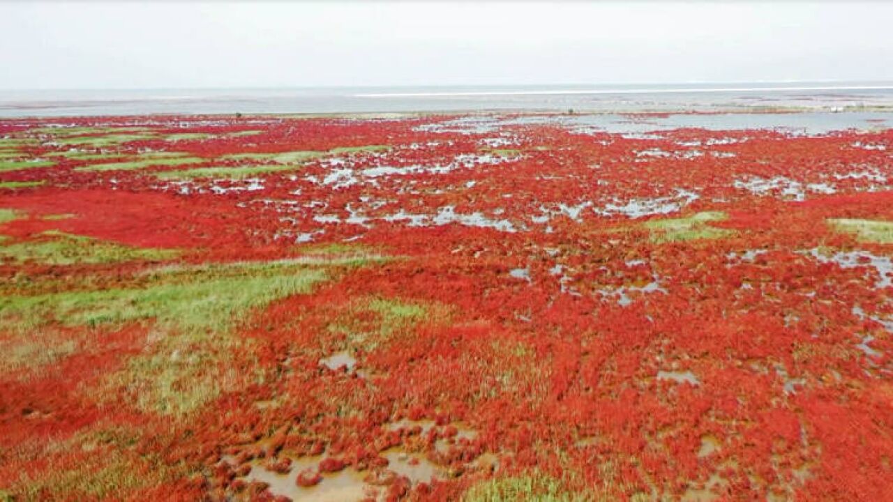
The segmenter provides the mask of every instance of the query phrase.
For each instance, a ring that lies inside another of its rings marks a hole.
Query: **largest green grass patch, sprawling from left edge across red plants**
[[[0,298],[0,322],[28,336],[47,322],[66,326],[119,326],[145,322],[153,344],[110,375],[96,398],[132,395],[146,411],[186,414],[245,375],[227,362],[250,342],[230,329],[255,308],[298,293],[308,293],[326,272],[288,263],[206,265],[178,272],[176,267],[149,276],[139,289],[75,290]]]

